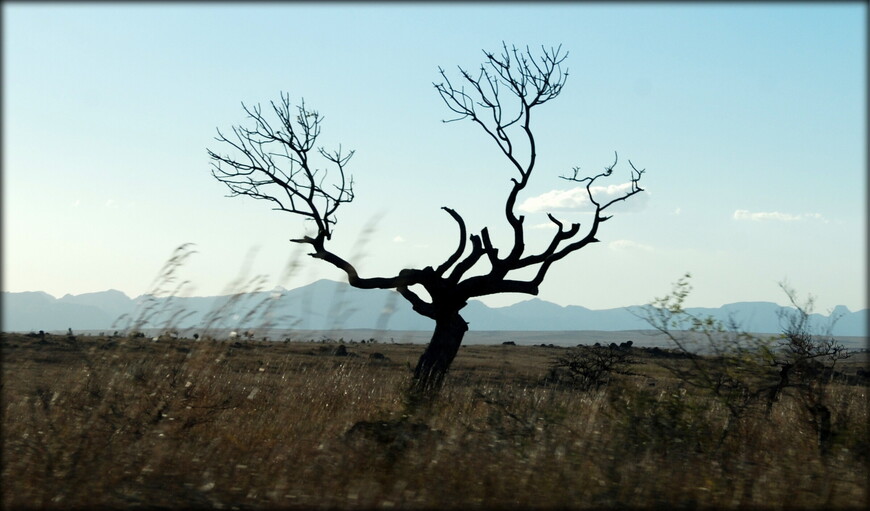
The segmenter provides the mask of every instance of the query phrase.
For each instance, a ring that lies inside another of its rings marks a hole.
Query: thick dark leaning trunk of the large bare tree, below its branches
[[[462,338],[468,331],[468,323],[459,313],[453,313],[435,320],[435,332],[426,351],[420,356],[414,369],[411,385],[412,397],[432,398],[438,394],[450,364],[456,358]]]

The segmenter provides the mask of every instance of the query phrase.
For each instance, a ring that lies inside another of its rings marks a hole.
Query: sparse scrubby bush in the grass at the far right
[[[708,392],[730,414],[722,429],[719,445],[736,422],[751,413],[770,415],[782,396],[794,400],[808,415],[820,452],[827,455],[838,425],[837,410],[830,398],[830,386],[845,375],[836,371],[838,361],[850,353],[833,337],[837,317],[817,330],[813,325],[814,299],[799,301],[785,283],[780,287],[793,307],[777,314],[782,334],[758,337],[743,330],[735,318],[728,324],[712,316],[695,315],[683,304],[692,287],[688,273],[679,279],[671,294],[656,298],[638,314],[663,333],[688,363],[662,363],[681,382]]]

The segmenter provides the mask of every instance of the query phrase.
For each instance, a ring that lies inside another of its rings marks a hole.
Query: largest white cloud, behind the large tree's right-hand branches
[[[622,183],[619,185],[609,186],[593,186],[591,189],[592,196],[599,204],[605,204],[613,199],[622,197],[631,190],[631,183]],[[627,199],[625,202],[620,202],[619,207],[622,211],[638,211],[642,209],[648,200],[648,193],[641,192],[635,197]],[[613,207],[617,207],[614,204]],[[592,209],[592,203],[589,201],[589,194],[586,192],[585,186],[571,188],[570,190],[550,190],[535,197],[529,197],[524,200],[518,207],[520,211],[525,213],[554,213],[557,211],[588,211]]]

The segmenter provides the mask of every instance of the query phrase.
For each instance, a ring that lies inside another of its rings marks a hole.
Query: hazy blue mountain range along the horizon
[[[123,330],[131,318],[151,314],[147,326],[166,324],[178,328],[273,327],[299,330],[376,329],[431,330],[432,320],[411,310],[410,305],[392,290],[362,290],[346,283],[319,280],[292,290],[247,293],[233,296],[154,298],[143,295],[131,299],[109,290],[100,293],[65,295],[62,298],[43,292],[3,292],[4,331]],[[688,308],[698,315],[711,315],[727,321],[737,320],[744,330],[777,333],[782,307],[772,302],[738,302],[719,308]],[[570,305],[563,307],[533,298],[507,307],[488,307],[471,300],[462,315],[477,331],[624,331],[645,330],[649,325],[632,312],[640,306],[592,310]],[[867,336],[867,309],[852,312],[844,306],[833,311],[840,319],[834,334]],[[121,321],[119,317],[127,315]],[[815,325],[827,324],[829,317],[813,314]],[[114,325],[113,325],[114,323]]]

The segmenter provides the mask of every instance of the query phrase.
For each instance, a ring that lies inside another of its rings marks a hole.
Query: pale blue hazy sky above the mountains
[[[356,200],[330,247],[364,276],[438,265],[471,232],[509,229],[514,171],[433,87],[502,41],[561,44],[570,70],[540,107],[526,225],[566,208],[579,166],[604,185],[645,168],[644,196],[601,243],[557,263],[539,297],[603,309],[647,303],[694,275],[689,305],[785,303],[778,282],[837,304],[866,298],[863,3],[3,4],[3,289],[148,291],[172,250],[198,251],[191,294],[221,293],[252,261],[269,285],[341,280],[288,240],[301,220],[227,198],[206,148],[279,92],[325,116],[321,142],[355,149]],[[564,193],[558,193],[564,192]],[[550,209],[547,209],[550,208]],[[371,226],[370,231],[366,231]],[[539,251],[552,227],[529,228]],[[503,251],[505,249],[502,249]],[[249,258],[248,254],[252,254]],[[290,278],[282,273],[294,258]],[[503,295],[504,305],[531,298]]]

